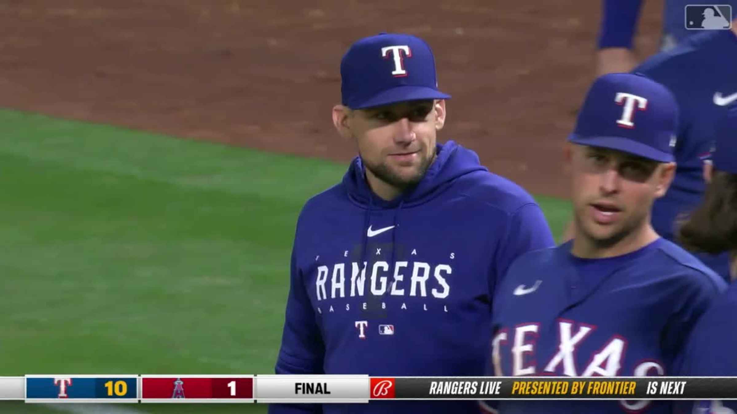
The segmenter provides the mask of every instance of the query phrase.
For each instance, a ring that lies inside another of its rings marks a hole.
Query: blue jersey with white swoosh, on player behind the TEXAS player
[[[646,60],[636,72],[645,74],[673,92],[680,109],[674,155],[676,176],[666,196],[655,201],[652,225],[673,239],[677,217],[701,203],[705,190],[703,159],[710,155],[716,120],[727,105],[737,102],[737,36],[730,30],[713,30],[688,38],[676,49]],[[697,255],[729,280],[727,254]]]

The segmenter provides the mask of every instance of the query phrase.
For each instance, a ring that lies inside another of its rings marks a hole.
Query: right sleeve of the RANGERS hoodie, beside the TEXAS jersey
[[[518,208],[511,215],[506,226],[506,234],[500,241],[495,261],[497,280],[491,281],[494,286],[490,291],[494,292],[494,287],[500,283],[501,278],[509,270],[509,265],[517,257],[528,251],[554,246],[551,228],[545,221],[545,215],[542,214],[540,207],[535,203],[528,203]]]

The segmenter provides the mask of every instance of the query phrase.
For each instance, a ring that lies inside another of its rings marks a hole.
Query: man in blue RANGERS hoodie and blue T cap
[[[332,119],[355,142],[343,181],[297,222],[276,373],[481,376],[491,298],[521,254],[553,246],[539,206],[475,152],[436,142],[445,119],[430,46],[354,43]],[[277,413],[476,412],[475,401],[273,404]]]

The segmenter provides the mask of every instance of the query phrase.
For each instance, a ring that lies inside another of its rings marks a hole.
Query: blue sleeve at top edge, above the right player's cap
[[[601,0],[601,27],[598,48],[632,49],[632,38],[640,15],[642,0]]]

